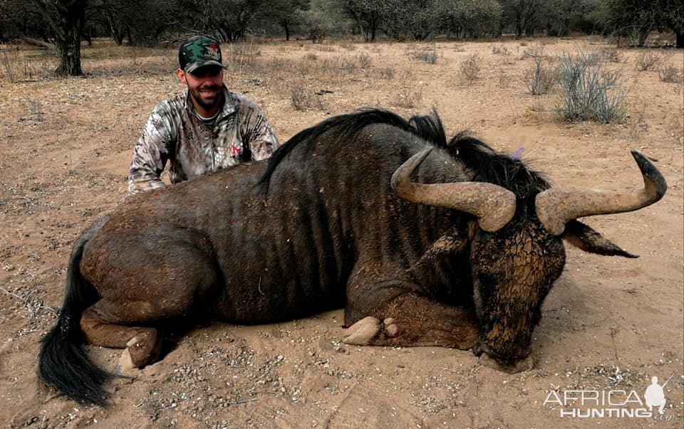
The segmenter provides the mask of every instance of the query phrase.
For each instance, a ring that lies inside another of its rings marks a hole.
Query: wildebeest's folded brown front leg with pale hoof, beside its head
[[[368,309],[370,315],[363,319],[356,319],[354,314],[358,312],[346,310],[346,344],[470,349],[480,337],[472,310],[442,304],[414,292],[405,292]]]

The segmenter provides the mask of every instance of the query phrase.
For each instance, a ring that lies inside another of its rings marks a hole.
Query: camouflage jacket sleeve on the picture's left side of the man
[[[142,135],[133,147],[133,161],[128,174],[128,194],[165,186],[160,175],[169,158],[170,148],[174,142],[175,128],[170,108],[161,102],[147,117]]]

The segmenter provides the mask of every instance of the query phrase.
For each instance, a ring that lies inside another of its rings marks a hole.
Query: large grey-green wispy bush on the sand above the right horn
[[[584,52],[566,55],[561,61],[561,101],[556,110],[566,120],[626,120],[626,92],[617,83],[618,73],[603,70],[605,61],[596,53]]]

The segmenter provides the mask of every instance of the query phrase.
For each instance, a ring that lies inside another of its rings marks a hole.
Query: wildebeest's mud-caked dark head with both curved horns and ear
[[[530,343],[541,304],[565,264],[563,240],[591,253],[635,258],[576,218],[648,206],[662,198],[667,185],[638,152],[632,153],[644,189],[606,192],[551,188],[522,161],[495,154],[465,135],[452,139],[447,149],[471,171],[471,182],[411,182],[427,149],[396,171],[393,188],[408,201],[454,208],[477,218],[468,237],[480,322],[480,342],[473,351],[487,366],[524,371],[532,366]]]

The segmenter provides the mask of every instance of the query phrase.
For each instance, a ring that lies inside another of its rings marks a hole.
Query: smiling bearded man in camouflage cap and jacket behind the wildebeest
[[[225,87],[221,48],[207,36],[195,36],[178,50],[181,92],[160,102],[133,148],[128,196],[157,189],[170,161],[172,183],[266,159],[279,142],[264,112],[251,100]]]

